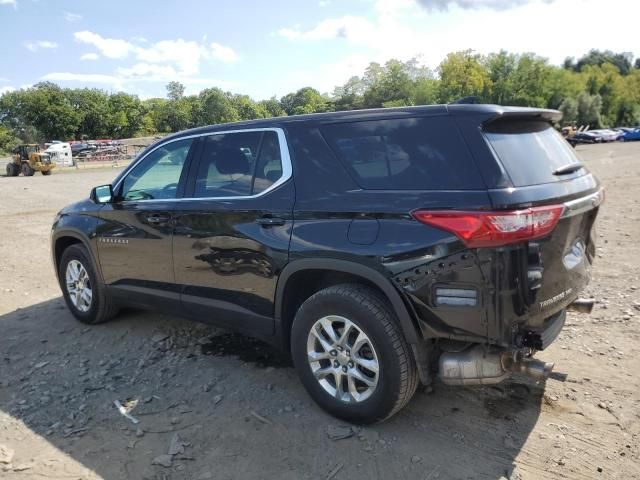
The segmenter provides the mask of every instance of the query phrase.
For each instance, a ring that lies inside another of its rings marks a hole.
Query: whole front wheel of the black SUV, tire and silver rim
[[[62,253],[58,280],[67,307],[81,322],[102,323],[117,313],[116,306],[105,286],[98,280],[93,262],[83,246],[71,245]]]

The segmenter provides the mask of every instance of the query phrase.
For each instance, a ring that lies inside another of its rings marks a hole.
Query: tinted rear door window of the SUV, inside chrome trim
[[[260,193],[282,176],[275,132],[238,132],[206,137],[194,197],[240,197]]]

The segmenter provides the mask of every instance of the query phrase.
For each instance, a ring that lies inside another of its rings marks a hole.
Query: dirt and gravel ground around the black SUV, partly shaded
[[[598,303],[539,354],[566,381],[436,384],[366,429],[258,342],[149,313],[76,322],[49,229],[117,172],[0,177],[0,478],[640,478],[640,142],[578,150],[607,193]]]

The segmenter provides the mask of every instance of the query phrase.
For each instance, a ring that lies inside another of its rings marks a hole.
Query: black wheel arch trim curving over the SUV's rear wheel
[[[307,282],[300,282],[300,275],[306,277]],[[320,279],[315,285],[308,286],[313,280]],[[323,279],[329,279],[323,281]],[[280,274],[276,287],[275,322],[282,348],[289,350],[291,325],[297,308],[316,291],[349,280],[358,281],[377,290],[389,301],[393,308],[400,328],[409,344],[416,344],[422,340],[419,327],[414,322],[407,305],[400,292],[379,271],[348,260],[309,258],[289,263]],[[305,286],[307,285],[307,286]],[[293,292],[293,294],[292,294]],[[301,293],[301,294],[300,294]]]

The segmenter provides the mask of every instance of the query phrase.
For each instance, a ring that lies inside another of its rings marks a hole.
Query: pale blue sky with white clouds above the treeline
[[[636,0],[0,0],[0,93],[40,81],[163,97],[330,93],[369,62],[505,49],[640,56]]]

